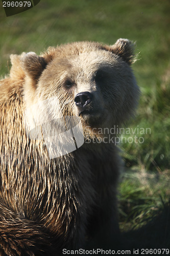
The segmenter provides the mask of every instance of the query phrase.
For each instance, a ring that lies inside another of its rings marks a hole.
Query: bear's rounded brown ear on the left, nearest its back
[[[47,65],[45,59],[36,55],[35,52],[26,53],[20,61],[22,69],[34,81],[37,81],[39,79],[42,71]]]

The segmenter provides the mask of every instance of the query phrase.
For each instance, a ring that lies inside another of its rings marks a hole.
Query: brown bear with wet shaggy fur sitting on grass
[[[118,237],[120,159],[104,129],[134,114],[133,61],[127,39],[11,55],[0,81],[1,255],[60,255]]]

